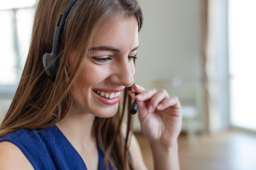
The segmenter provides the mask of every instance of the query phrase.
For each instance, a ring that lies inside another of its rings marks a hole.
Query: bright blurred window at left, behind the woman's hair
[[[27,57],[37,0],[0,2],[0,93],[16,85]]]

